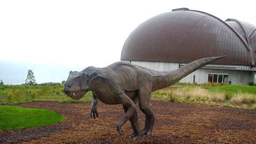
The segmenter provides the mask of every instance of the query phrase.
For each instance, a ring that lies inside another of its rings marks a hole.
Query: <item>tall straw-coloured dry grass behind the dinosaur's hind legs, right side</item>
[[[168,100],[171,102],[186,102],[186,103],[254,103],[256,95],[249,93],[232,93],[209,91],[198,86],[184,86],[174,90],[159,90],[153,93],[153,97]]]

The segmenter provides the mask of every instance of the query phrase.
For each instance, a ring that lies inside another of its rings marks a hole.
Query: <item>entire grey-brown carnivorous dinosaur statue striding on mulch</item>
[[[86,92],[92,91],[91,117],[98,117],[97,99],[105,104],[122,104],[124,116],[117,125],[117,131],[123,135],[121,126],[130,120],[133,133],[129,137],[150,136],[155,122],[155,114],[150,103],[151,92],[178,82],[193,71],[221,57],[202,58],[173,71],[154,71],[127,62],[116,62],[105,68],[87,67],[77,72],[70,71],[65,82],[64,92],[73,99],[80,99]],[[136,103],[146,115],[145,128],[139,131]]]

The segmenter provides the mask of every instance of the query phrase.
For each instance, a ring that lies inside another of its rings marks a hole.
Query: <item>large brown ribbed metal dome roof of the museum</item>
[[[246,25],[244,33],[250,33]],[[255,46],[256,32],[251,45]],[[123,45],[121,60],[188,63],[223,56],[214,64],[254,65],[255,53],[240,30],[199,11],[174,11],[157,15],[139,25]],[[252,59],[253,61],[252,61]]]

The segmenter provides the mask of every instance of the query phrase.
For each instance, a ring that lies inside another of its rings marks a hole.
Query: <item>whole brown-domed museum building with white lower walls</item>
[[[255,83],[256,27],[235,19],[175,9],[139,25],[125,41],[121,60],[170,71],[194,60],[224,56],[180,82]]]

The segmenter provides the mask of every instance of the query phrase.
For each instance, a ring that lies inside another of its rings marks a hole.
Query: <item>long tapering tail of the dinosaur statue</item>
[[[155,75],[153,76],[152,91],[168,87],[178,82],[179,80],[189,75],[190,73],[194,72],[195,70],[223,57],[225,56],[202,58],[202,59],[193,61],[189,64],[186,64],[183,67],[173,71],[156,72]]]

